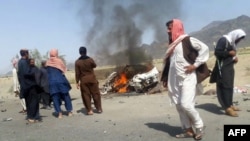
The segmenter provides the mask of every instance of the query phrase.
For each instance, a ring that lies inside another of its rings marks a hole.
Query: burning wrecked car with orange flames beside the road
[[[149,69],[150,68],[150,69]],[[121,71],[112,72],[106,79],[101,94],[108,93],[146,93],[159,82],[156,67],[144,65],[126,65]]]

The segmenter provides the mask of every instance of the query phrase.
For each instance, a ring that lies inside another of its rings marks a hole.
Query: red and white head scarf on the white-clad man
[[[184,27],[179,19],[173,19],[173,27],[172,27],[172,40],[173,42],[168,46],[166,51],[166,58],[169,57],[177,44],[179,44],[185,37],[188,35],[184,33]]]

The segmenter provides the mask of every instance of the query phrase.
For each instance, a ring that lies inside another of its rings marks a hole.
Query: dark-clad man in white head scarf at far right
[[[232,117],[238,117],[236,111],[240,111],[233,106],[234,64],[238,62],[236,45],[245,36],[246,33],[242,29],[233,30],[218,40],[214,51],[217,59],[212,73],[214,77],[211,79],[215,79],[220,105],[225,109],[225,113]]]

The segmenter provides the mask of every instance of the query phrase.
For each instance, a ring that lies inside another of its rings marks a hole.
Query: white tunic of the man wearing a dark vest
[[[190,37],[190,42],[193,48],[199,53],[194,63],[194,65],[198,67],[208,60],[209,48],[193,37]],[[168,75],[168,93],[174,104],[188,104],[194,100],[197,78],[195,71],[190,74],[185,73],[184,67],[189,65],[190,63],[188,63],[183,56],[182,42],[180,42],[170,56]]]

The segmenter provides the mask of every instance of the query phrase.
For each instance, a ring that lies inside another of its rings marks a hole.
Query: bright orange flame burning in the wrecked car
[[[118,93],[125,93],[127,92],[127,83],[128,79],[125,73],[121,73],[120,77],[116,78],[114,82],[114,88],[117,90]]]

